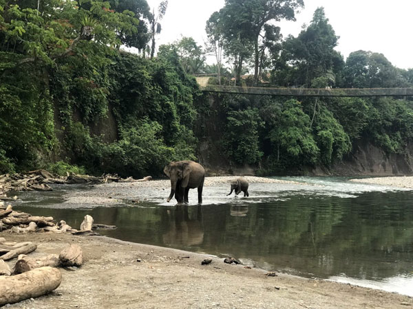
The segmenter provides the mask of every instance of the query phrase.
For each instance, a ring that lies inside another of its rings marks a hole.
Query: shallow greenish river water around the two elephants
[[[202,205],[195,203],[196,190],[189,205],[174,205],[165,201],[167,186],[61,185],[21,193],[15,208],[74,228],[90,214],[96,223],[118,227],[99,233],[121,240],[413,296],[412,190],[337,177],[277,179],[302,184],[252,183],[248,198],[226,196],[229,185],[211,185],[204,187]],[[108,192],[116,203],[76,202],[76,196]],[[132,202],[142,196],[145,201]]]

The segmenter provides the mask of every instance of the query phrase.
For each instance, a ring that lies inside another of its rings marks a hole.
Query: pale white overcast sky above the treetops
[[[158,8],[160,0],[147,0]],[[306,5],[297,21],[280,21],[284,37],[297,36],[309,24],[315,9],[323,6],[326,17],[339,36],[336,49],[344,58],[363,49],[384,54],[396,67],[413,68],[413,0],[304,0]],[[169,0],[161,21],[157,46],[172,43],[181,36],[192,36],[199,45],[206,41],[205,23],[224,6],[224,0]]]

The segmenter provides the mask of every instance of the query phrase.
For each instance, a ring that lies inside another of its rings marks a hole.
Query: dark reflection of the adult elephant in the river
[[[204,241],[204,229],[202,227],[201,207],[201,205],[197,205],[191,208],[191,218],[189,216],[188,205],[178,204],[176,205],[176,209],[168,211],[170,228],[169,231],[162,236],[164,244],[174,246],[202,244]]]

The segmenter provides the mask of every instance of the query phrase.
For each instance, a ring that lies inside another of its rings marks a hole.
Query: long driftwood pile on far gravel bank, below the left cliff
[[[17,173],[0,175],[0,194],[10,191],[50,191],[52,190],[52,187],[50,187],[51,183],[108,183],[112,181],[149,181],[151,179],[151,176],[146,176],[145,178],[138,180],[131,177],[122,179],[116,174],[103,174],[100,177],[95,177],[67,173],[66,176],[58,176],[47,172],[47,170],[33,170],[25,174]]]

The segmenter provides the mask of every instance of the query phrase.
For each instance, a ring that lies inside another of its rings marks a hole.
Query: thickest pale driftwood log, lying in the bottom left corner
[[[59,269],[36,268],[11,277],[0,277],[0,306],[52,292],[62,282]]]

